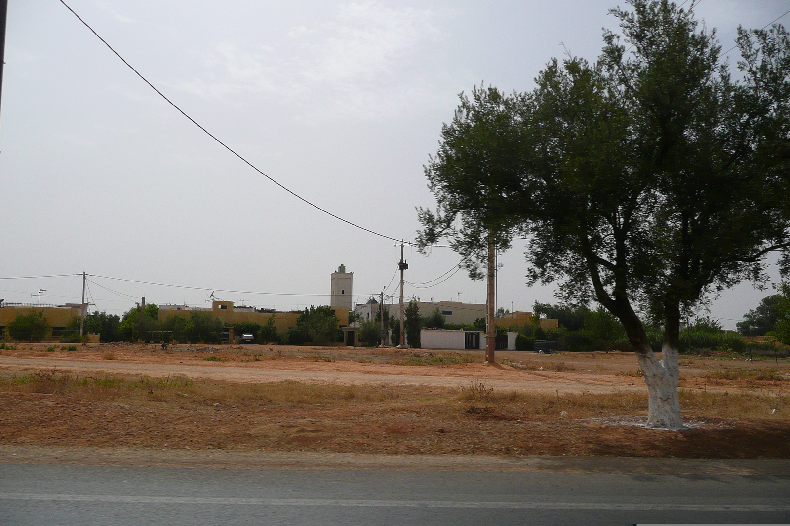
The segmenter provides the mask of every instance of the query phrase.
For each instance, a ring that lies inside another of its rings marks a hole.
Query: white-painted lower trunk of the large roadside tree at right
[[[647,427],[683,429],[678,396],[678,349],[664,343],[659,360],[649,345],[637,353],[648,391]]]

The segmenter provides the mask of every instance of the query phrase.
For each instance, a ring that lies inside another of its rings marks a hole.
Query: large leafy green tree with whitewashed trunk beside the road
[[[790,246],[790,46],[781,26],[742,30],[746,80],[735,82],[715,32],[693,13],[665,0],[629,3],[633,11],[611,13],[632,53],[606,32],[597,62],[553,60],[537,88],[504,105],[521,132],[502,135],[510,143],[500,149],[517,155],[492,181],[502,199],[478,203],[509,225],[519,218],[529,283],[559,282],[562,299],[596,300],[619,319],[644,372],[649,427],[682,427],[680,320],[735,283],[765,282],[766,255]],[[472,185],[442,182],[458,173],[448,162],[431,167],[440,210],[420,215],[427,241],[455,203],[468,203],[445,195],[471,196]],[[648,324],[664,328],[660,358]]]

